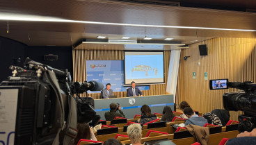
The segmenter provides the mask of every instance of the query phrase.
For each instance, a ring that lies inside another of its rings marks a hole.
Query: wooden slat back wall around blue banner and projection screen
[[[86,60],[125,60],[125,54],[122,50],[83,50],[73,49],[73,79],[74,81],[84,82],[86,80]],[[168,66],[170,60],[170,51],[164,51],[164,69],[165,80],[167,81]],[[150,90],[143,90],[144,96],[166,94],[166,84],[150,85]],[[80,94],[85,96],[86,94]],[[127,92],[113,92],[118,97],[126,97]],[[94,99],[100,99],[100,93],[88,94]]]

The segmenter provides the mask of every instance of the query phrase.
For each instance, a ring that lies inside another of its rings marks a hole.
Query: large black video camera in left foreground
[[[0,141],[6,144],[70,144],[77,122],[100,119],[87,91],[102,83],[73,82],[70,73],[26,58],[24,69],[10,66],[12,76],[0,84]],[[86,98],[79,93],[86,92]],[[76,94],[77,97],[74,97]]]

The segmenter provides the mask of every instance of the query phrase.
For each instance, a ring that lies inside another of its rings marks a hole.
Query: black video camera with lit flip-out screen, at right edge
[[[217,85],[218,87],[216,87]],[[243,91],[223,94],[225,110],[243,111],[244,114],[238,117],[240,133],[253,130],[256,128],[256,83],[250,81],[228,82],[227,79],[210,80],[210,89],[227,89],[228,87]]]

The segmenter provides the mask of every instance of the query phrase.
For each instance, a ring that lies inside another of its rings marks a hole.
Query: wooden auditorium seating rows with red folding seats
[[[190,135],[189,131],[186,128],[173,128],[172,125],[177,123],[184,123],[186,119],[181,119],[179,116],[182,114],[181,112],[173,112],[175,114],[175,118],[172,122],[160,122],[160,119],[156,119],[144,125],[142,134],[143,138],[141,142],[156,140],[156,139],[171,139],[175,144],[194,144],[195,139]],[[157,117],[161,118],[162,114],[154,113]],[[198,112],[198,114],[201,114]],[[134,123],[134,121],[141,118],[141,115],[136,114],[134,119],[125,119],[122,117],[115,117],[113,121],[100,121],[103,124],[102,129],[97,130],[95,136],[97,140],[100,141],[96,144],[102,144],[101,142],[105,142],[109,138],[117,138],[122,144],[130,144],[129,137],[127,136],[127,126],[130,123]],[[210,139],[209,144],[218,144],[218,142],[223,139],[223,137],[233,138],[238,134],[237,131],[237,121],[230,121],[227,123],[227,126],[215,126],[212,124],[205,124],[205,127],[210,128]],[[81,144],[89,144],[88,142],[81,142]]]

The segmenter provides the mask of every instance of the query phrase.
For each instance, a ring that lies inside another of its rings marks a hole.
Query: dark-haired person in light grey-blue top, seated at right
[[[186,117],[189,118],[186,119],[185,126],[189,124],[205,126],[205,123],[208,123],[207,119],[205,119],[204,117],[199,117],[190,107],[185,108],[183,112],[186,115]]]

